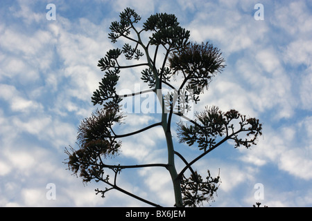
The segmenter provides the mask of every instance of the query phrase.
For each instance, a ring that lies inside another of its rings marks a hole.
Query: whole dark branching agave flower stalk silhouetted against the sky
[[[207,90],[212,77],[225,68],[220,50],[209,42],[201,44],[190,42],[189,30],[180,26],[175,15],[166,13],[151,15],[141,30],[135,27],[140,20],[141,17],[135,10],[126,8],[120,14],[120,21],[112,22],[109,34],[112,43],[123,38],[129,44],[124,44],[121,49],[108,50],[105,57],[98,61],[98,66],[105,71],[105,75],[98,89],[94,91],[92,102],[103,108],[81,122],[78,128],[79,148],[66,149],[69,155],[66,164],[74,174],[83,178],[83,182],[95,180],[107,184],[105,189],[96,189],[96,194],[100,193],[103,198],[107,191],[115,189],[153,206],[159,205],[122,189],[116,178],[121,171],[127,169],[163,167],[171,175],[175,206],[200,206],[204,201],[213,200],[220,177],[211,177],[207,171],[207,175],[203,178],[194,171],[193,164],[227,140],[234,140],[235,148],[239,146],[249,148],[252,144],[256,144],[257,137],[261,135],[261,124],[258,119],[248,118],[235,110],[223,112],[216,106],[206,107],[201,113],[195,113],[194,119],[187,117],[186,113],[191,110],[192,105],[200,102],[200,95]],[[133,35],[130,35],[130,32]],[[143,33],[150,34],[147,42],[142,39]],[[162,52],[159,52],[161,49]],[[121,55],[128,60],[135,59],[137,63],[123,65],[120,61]],[[162,62],[159,63],[159,59],[162,59]],[[148,84],[150,90],[118,95],[116,84],[119,81],[119,73],[123,69],[137,67],[142,68],[141,79]],[[177,77],[182,79],[179,87],[171,84],[171,80]],[[163,94],[164,88],[169,88],[172,92]],[[132,133],[116,134],[113,126],[121,124],[121,120],[125,117],[120,106],[121,100],[123,97],[137,96],[141,93],[155,93],[157,96],[162,106],[159,122]],[[173,115],[184,119],[177,124],[180,142],[189,146],[196,144],[201,151],[201,154],[191,162],[187,162],[174,148],[171,133]],[[187,120],[188,124],[185,123]],[[168,163],[136,165],[105,163],[107,157],[114,157],[119,153],[121,149],[119,138],[142,133],[155,126],[163,128]],[[176,170],[175,155],[185,163],[182,171]],[[190,177],[184,176],[187,170],[191,172]],[[114,176],[107,175],[107,171],[112,171]]]

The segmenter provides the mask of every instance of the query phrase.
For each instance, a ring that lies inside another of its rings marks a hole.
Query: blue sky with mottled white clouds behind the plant
[[[49,3],[55,19],[46,17]],[[101,198],[94,189],[103,184],[84,184],[62,163],[80,122],[101,108],[91,102],[103,77],[97,62],[116,48],[109,26],[127,7],[142,22],[157,12],[174,14],[191,41],[223,52],[227,66],[194,111],[234,108],[263,124],[257,146],[228,142],[194,165],[222,181],[204,206],[312,206],[312,3],[266,0],[0,1],[0,206],[148,206],[118,191]],[[140,70],[120,76],[118,90],[146,88]],[[157,120],[128,113],[120,132]],[[123,138],[120,155],[109,161],[166,163],[163,135],[156,127]],[[189,161],[201,153],[180,144],[175,132],[173,141]],[[143,198],[174,204],[164,169],[130,169],[118,179]]]

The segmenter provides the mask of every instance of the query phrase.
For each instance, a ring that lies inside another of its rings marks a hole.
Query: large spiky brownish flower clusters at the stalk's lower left
[[[84,182],[103,178],[104,164],[102,157],[114,156],[121,147],[116,141],[112,125],[120,123],[122,116],[115,111],[96,111],[92,117],[84,119],[78,128],[78,144],[80,148],[66,151],[69,155],[69,170],[83,177]]]

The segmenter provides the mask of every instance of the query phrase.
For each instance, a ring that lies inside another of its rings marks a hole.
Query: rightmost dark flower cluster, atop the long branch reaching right
[[[236,122],[234,122],[236,120]],[[239,122],[237,122],[239,120]],[[234,123],[236,123],[234,126]],[[236,128],[235,127],[239,127]],[[207,151],[213,148],[217,138],[225,136],[225,140],[234,140],[235,148],[245,146],[249,148],[251,144],[256,144],[257,137],[262,135],[262,125],[259,119],[246,118],[238,111],[231,110],[224,113],[216,106],[206,107],[202,113],[196,113],[193,125],[178,124],[177,135],[180,142],[186,142],[189,146],[198,143],[200,150]],[[239,133],[245,132],[245,140],[239,137]]]

